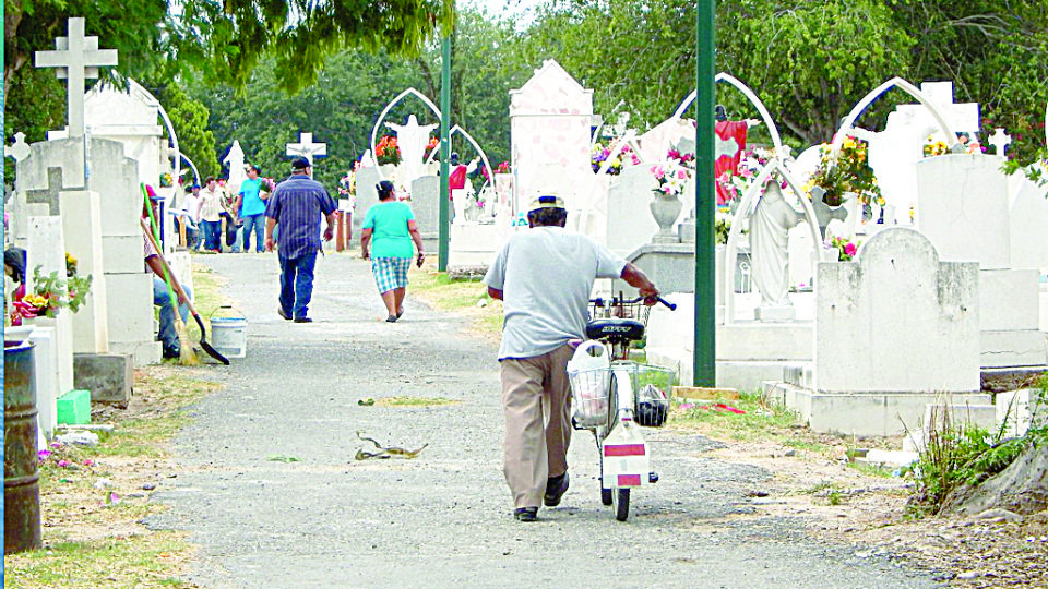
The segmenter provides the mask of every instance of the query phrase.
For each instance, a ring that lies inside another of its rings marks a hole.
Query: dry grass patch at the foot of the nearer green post
[[[730,409],[745,411],[736,413]],[[759,393],[741,393],[731,401],[675,404],[669,425],[734,441],[779,440],[799,423],[795,412],[764,401]]]

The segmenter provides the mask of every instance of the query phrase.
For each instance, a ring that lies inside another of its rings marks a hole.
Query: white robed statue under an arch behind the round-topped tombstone
[[[753,284],[761,292],[761,306],[790,306],[789,301],[789,230],[802,215],[783,196],[778,182],[769,180],[750,219],[750,252],[753,259]]]

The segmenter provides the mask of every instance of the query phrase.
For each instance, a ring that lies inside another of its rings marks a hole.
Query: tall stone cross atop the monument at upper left
[[[116,49],[98,49],[98,37],[84,36],[84,20],[69,20],[69,36],[55,39],[56,51],[37,51],[37,68],[58,68],[58,77],[68,79],[69,136],[84,135],[84,83],[98,77],[98,65],[116,65]]]

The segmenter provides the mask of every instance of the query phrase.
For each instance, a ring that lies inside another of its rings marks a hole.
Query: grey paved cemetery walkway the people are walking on
[[[369,264],[317,264],[310,315],[276,314],[273,254],[196,256],[224,277],[248,318],[247,358],[210,366],[225,388],[176,438],[178,477],[155,497],[155,527],[200,545],[204,588],[702,587],[927,588],[931,575],[820,543],[797,520],[738,517],[760,468],[703,456],[715,444],[651,437],[656,485],[633,493],[630,520],[600,505],[597,455],[577,432],[560,507],[521,524],[501,473],[496,349],[464,323],[408,299],[388,324]],[[410,293],[410,289],[408,289]],[[391,396],[443,406],[367,406]],[[414,460],[354,459],[365,432]]]

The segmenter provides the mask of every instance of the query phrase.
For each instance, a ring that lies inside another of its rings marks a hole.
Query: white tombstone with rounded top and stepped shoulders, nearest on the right
[[[941,262],[928,238],[890,228],[815,281],[815,431],[885,435],[920,423],[938,395],[979,390],[978,264]]]

